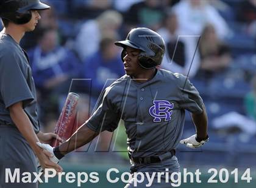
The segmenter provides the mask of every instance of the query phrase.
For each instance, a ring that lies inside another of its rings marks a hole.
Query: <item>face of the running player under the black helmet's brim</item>
[[[138,74],[143,71],[139,64],[138,56],[140,55],[140,50],[133,49],[131,47],[126,47],[126,55],[124,56],[124,70],[126,75],[137,77]]]

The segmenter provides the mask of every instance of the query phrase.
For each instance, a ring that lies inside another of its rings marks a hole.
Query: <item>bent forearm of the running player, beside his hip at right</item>
[[[205,106],[203,107],[203,112],[200,114],[191,113],[194,126],[196,126],[196,135],[198,138],[207,138],[207,113]]]

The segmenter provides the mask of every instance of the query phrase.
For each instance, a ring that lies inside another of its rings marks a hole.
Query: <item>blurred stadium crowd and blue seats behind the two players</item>
[[[254,187],[256,169],[255,0],[48,0],[51,10],[26,33],[37,87],[41,129],[52,132],[68,92],[80,94],[79,125],[99,95],[124,75],[121,49],[113,42],[134,27],[149,27],[166,42],[162,69],[187,75],[204,99],[210,142],[198,150],[179,146],[182,168],[251,168],[254,183],[183,184],[180,187]],[[183,137],[194,133],[187,113]],[[129,172],[126,133],[103,132],[63,159],[65,171]],[[210,175],[210,174],[208,174]],[[104,179],[104,178],[103,178]],[[206,180],[206,179],[205,179]],[[90,187],[122,187],[106,180]],[[84,185],[84,186],[85,186]],[[40,187],[76,187],[52,181]],[[87,187],[87,186],[85,186]]]

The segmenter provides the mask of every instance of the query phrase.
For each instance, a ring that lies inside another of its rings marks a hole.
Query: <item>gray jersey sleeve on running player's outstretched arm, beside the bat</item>
[[[88,128],[95,132],[102,132],[104,130],[113,132],[118,127],[119,119],[121,118],[120,113],[112,104],[108,89],[105,89],[104,95],[101,98],[101,104],[99,104],[98,109],[86,123]]]

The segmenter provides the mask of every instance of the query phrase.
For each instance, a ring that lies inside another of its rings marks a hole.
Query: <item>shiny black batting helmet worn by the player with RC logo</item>
[[[127,46],[140,49],[141,53],[138,60],[144,69],[152,69],[160,65],[165,54],[165,42],[162,36],[144,27],[132,29],[125,41],[118,41],[115,44],[124,48],[121,55],[122,61],[124,61]]]

